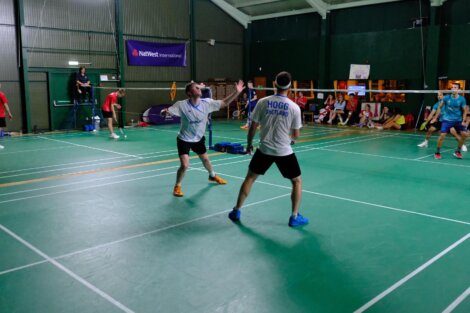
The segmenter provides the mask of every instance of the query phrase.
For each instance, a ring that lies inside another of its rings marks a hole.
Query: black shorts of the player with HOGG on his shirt
[[[273,163],[276,163],[282,176],[287,179],[299,177],[301,174],[299,162],[294,153],[286,156],[273,156],[264,154],[259,149],[256,149],[251,159],[249,169],[255,174],[264,175]]]

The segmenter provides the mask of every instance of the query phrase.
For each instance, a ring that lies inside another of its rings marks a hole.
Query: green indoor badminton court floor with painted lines
[[[246,141],[216,121],[214,142]],[[276,167],[233,207],[250,156],[193,155],[183,198],[169,125],[3,138],[0,312],[470,312],[470,153],[443,159],[421,133],[311,127],[303,177]]]

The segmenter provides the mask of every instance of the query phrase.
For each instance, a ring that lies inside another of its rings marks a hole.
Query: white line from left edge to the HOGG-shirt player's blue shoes
[[[291,195],[291,193],[289,192],[289,193],[286,193],[284,195],[280,195],[280,196],[272,197],[272,198],[269,198],[269,199],[264,199],[264,200],[252,202],[252,203],[244,205],[242,208],[247,208],[247,207],[254,206],[254,205],[257,205],[257,204],[260,204],[260,203],[265,203],[265,202],[268,202],[268,201],[277,200],[277,199],[287,197],[287,196],[290,196],[290,195]],[[90,247],[90,248],[77,250],[77,251],[70,252],[70,253],[67,253],[67,254],[62,254],[60,256],[54,257],[53,259],[54,260],[60,260],[60,259],[63,259],[63,258],[67,258],[67,257],[75,256],[75,255],[78,255],[78,254],[82,254],[82,253],[85,253],[85,252],[89,252],[89,251],[109,247],[109,246],[115,245],[117,243],[129,241],[129,240],[144,237],[144,236],[147,236],[147,235],[152,235],[152,234],[159,233],[159,232],[162,232],[162,231],[165,231],[165,230],[168,230],[168,229],[173,229],[173,228],[180,227],[180,226],[183,226],[183,225],[187,225],[187,224],[190,224],[190,223],[194,223],[194,222],[197,222],[197,221],[202,221],[202,220],[205,220],[205,219],[208,219],[208,218],[211,218],[211,217],[214,217],[214,216],[218,216],[218,215],[221,215],[221,214],[226,214],[226,213],[230,212],[231,210],[232,209],[219,211],[219,212],[216,212],[216,213],[212,213],[212,214],[205,215],[205,216],[202,216],[202,217],[197,217],[197,218],[194,218],[194,219],[191,219],[191,220],[188,220],[188,221],[185,221],[185,222],[181,222],[181,223],[178,223],[178,224],[173,224],[173,225],[166,226],[166,227],[163,227],[163,228],[157,228],[157,229],[145,232],[145,233],[140,233],[140,234],[128,236],[128,237],[121,238],[121,239],[118,239],[118,240],[102,243],[102,244],[99,244],[99,245],[96,245],[96,246],[93,246],[93,247]],[[27,265],[11,268],[11,269],[5,270],[3,272],[0,272],[0,276],[4,275],[4,274],[11,273],[11,272],[19,271],[19,270],[22,270],[22,269],[25,269],[25,268],[33,267],[33,266],[36,266],[36,265],[39,265],[39,264],[43,264],[43,263],[46,263],[46,262],[47,262],[47,260],[43,260],[43,261],[38,261],[38,262],[30,263],[30,264],[27,264]]]

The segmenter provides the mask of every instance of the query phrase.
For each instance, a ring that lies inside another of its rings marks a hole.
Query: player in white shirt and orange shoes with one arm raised
[[[229,105],[243,91],[244,85],[243,81],[240,80],[235,84],[235,91],[223,100],[202,99],[201,89],[203,87],[204,85],[194,82],[187,84],[185,92],[188,99],[178,101],[168,109],[162,110],[162,114],[171,114],[181,118],[181,127],[176,138],[180,167],[176,173],[176,184],[173,188],[173,195],[175,197],[183,196],[181,182],[189,167],[190,150],[193,150],[199,156],[202,164],[209,172],[209,181],[218,184],[227,183],[225,179],[217,176],[214,172],[207,155],[204,133],[206,132],[208,115]]]

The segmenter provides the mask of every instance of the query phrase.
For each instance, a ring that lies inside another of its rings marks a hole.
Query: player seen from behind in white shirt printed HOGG
[[[308,224],[308,219],[299,214],[302,198],[302,179],[297,157],[291,147],[292,139],[300,135],[302,118],[299,106],[287,95],[291,86],[291,75],[281,72],[276,76],[276,94],[258,101],[252,115],[248,131],[247,151],[253,150],[253,137],[260,125],[260,146],[256,150],[248,167],[248,174],[238,194],[237,204],[229,213],[229,218],[240,220],[240,208],[243,206],[253,183],[259,175],[264,175],[273,163],[276,163],[282,176],[292,182],[292,215],[289,226]]]

